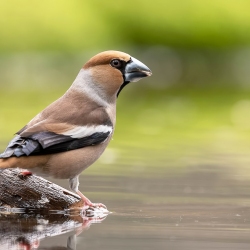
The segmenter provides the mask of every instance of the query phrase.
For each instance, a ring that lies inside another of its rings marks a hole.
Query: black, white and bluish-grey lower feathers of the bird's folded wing
[[[36,132],[28,137],[16,135],[0,158],[60,153],[94,146],[104,142],[112,133],[112,126],[75,126],[62,134]]]

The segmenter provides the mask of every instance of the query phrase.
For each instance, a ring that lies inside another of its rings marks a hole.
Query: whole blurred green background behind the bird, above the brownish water
[[[249,9],[247,0],[0,1],[0,149],[88,58],[113,49],[153,76],[123,90],[114,140],[88,173],[218,165],[245,178]]]

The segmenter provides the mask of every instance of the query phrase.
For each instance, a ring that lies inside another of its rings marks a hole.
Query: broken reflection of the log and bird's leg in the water
[[[1,249],[76,249],[76,237],[94,223],[101,223],[108,215],[105,209],[87,209],[81,214],[77,211],[38,214],[34,211],[10,213],[0,209],[0,246]],[[40,241],[74,232],[67,239],[67,246],[40,246]]]

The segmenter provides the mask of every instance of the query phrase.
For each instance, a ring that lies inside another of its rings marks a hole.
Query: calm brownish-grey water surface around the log
[[[19,241],[28,235],[33,249],[249,249],[250,185],[236,177],[234,169],[216,166],[152,176],[85,174],[81,190],[93,202],[107,205],[111,214],[84,220],[2,215],[1,249],[28,249],[20,242],[11,243],[12,220]],[[67,187],[67,182],[57,183]],[[35,230],[40,230],[40,238],[32,235]]]

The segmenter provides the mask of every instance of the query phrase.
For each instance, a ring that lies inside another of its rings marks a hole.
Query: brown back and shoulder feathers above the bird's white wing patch
[[[77,98],[75,95],[72,98],[65,95],[36,115],[17,134],[30,137],[40,132],[65,134],[75,128],[113,127],[115,117],[110,114],[109,108],[86,97]]]

